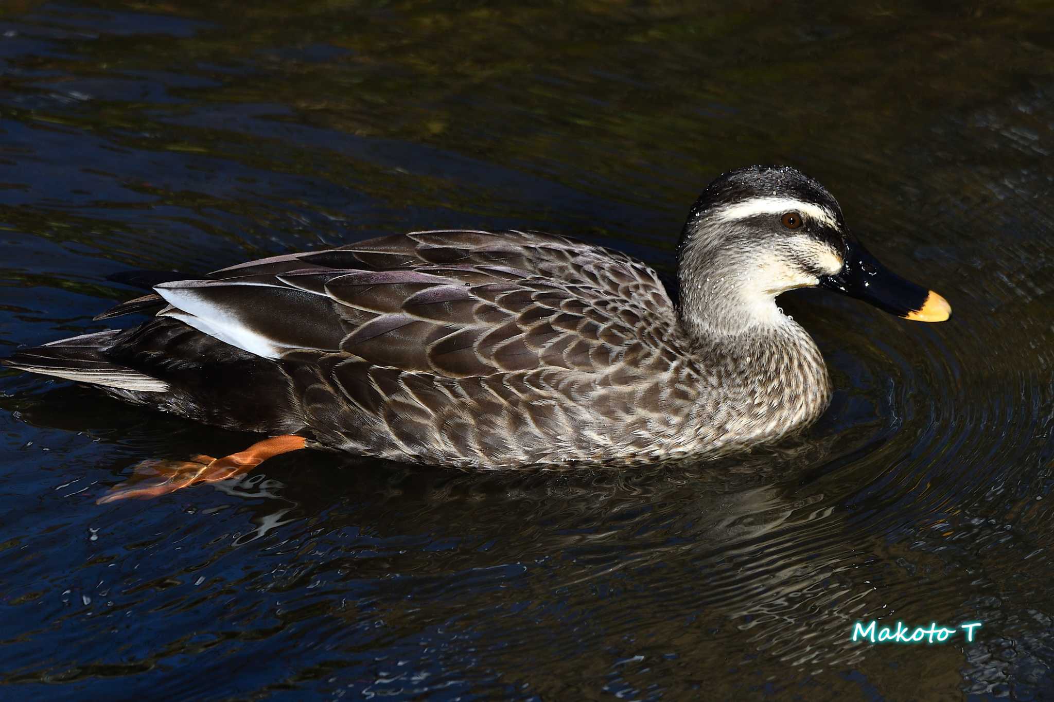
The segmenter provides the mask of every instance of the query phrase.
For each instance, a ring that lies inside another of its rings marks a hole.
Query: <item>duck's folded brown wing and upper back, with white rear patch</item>
[[[522,237],[421,233],[253,261],[158,285],[169,304],[159,315],[265,358],[345,353],[455,378],[599,370],[668,350],[672,306],[650,268]]]

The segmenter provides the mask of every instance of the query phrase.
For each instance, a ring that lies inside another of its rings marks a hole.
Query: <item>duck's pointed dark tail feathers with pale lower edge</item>
[[[0,359],[0,363],[27,373],[120,390],[167,392],[169,384],[164,381],[106,360],[102,352],[113,344],[120,333],[120,329],[96,332],[23,348],[11,358]]]

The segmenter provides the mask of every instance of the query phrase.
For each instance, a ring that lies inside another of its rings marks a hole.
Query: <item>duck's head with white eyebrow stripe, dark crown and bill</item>
[[[952,312],[882,265],[850,233],[831,193],[786,166],[740,168],[710,183],[679,254],[682,316],[708,332],[784,321],[776,296],[796,287],[826,287],[922,322]]]

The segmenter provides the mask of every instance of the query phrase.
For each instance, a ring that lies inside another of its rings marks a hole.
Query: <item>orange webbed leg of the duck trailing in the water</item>
[[[249,473],[278,454],[304,448],[304,437],[286,435],[257,441],[249,448],[223,458],[196,456],[189,461],[143,461],[135,467],[131,480],[116,485],[99,498],[98,504],[125,498],[145,499],[188,487],[213,483]]]

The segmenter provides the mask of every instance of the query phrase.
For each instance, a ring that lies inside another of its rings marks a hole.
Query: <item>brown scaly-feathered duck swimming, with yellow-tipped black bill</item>
[[[644,466],[726,455],[815,422],[832,384],[777,297],[822,287],[939,322],[818,181],[724,173],[690,208],[676,285],[543,232],[442,229],[176,275],[96,317],[145,322],[18,350],[7,366],[261,435],[144,461],[100,501],[240,476],[299,449],[464,469]]]

